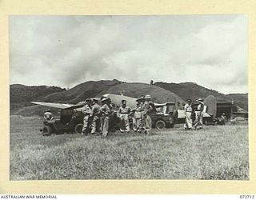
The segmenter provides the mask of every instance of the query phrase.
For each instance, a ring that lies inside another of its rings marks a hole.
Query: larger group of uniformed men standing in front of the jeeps
[[[82,134],[102,134],[106,137],[109,132],[110,115],[116,114],[121,121],[120,131],[129,133],[129,118],[133,119],[133,130],[150,134],[151,115],[154,114],[154,103],[151,102],[150,95],[142,96],[137,99],[137,106],[133,109],[126,105],[126,100],[122,100],[122,106],[118,110],[113,110],[111,99],[102,97],[102,105],[99,106],[98,100],[88,98],[82,107],[82,113],[85,115],[83,120]]]

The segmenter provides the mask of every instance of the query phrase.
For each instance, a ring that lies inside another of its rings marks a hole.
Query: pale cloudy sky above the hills
[[[247,17],[11,15],[10,84],[196,82],[247,93]]]

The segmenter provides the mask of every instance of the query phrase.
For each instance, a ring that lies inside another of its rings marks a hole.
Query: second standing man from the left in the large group
[[[93,99],[92,102],[92,123],[91,123],[91,134],[99,134],[101,130],[101,106],[98,105],[98,100]]]

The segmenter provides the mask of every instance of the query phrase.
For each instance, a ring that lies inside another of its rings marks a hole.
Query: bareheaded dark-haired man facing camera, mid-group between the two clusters
[[[129,133],[130,131],[130,124],[129,124],[129,118],[128,115],[130,114],[130,107],[126,105],[126,100],[122,100],[122,106],[118,110],[119,118],[121,119],[121,124],[125,126],[125,130],[122,130],[122,127],[120,128],[121,132]]]

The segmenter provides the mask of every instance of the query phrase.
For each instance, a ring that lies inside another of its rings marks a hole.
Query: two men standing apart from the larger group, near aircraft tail
[[[184,129],[185,130],[190,130],[193,127],[195,130],[202,129],[204,103],[202,101],[202,98],[198,98],[196,102],[198,102],[198,106],[195,110],[193,110],[192,100],[190,98],[186,100],[186,104],[184,106],[184,110],[185,110]],[[193,114],[194,114],[194,122],[192,119]]]

